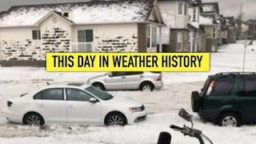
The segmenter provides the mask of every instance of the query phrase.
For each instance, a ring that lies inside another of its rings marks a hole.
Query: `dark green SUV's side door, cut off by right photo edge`
[[[246,122],[256,122],[256,79],[243,79],[238,90],[238,102]]]

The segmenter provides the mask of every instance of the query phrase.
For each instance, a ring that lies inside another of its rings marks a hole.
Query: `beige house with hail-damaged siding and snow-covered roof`
[[[44,66],[46,52],[156,52],[154,0],[14,6],[0,14],[2,66]]]

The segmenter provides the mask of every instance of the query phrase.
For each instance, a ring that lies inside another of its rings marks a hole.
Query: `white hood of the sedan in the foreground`
[[[118,96],[110,99],[108,102],[113,103],[114,105],[128,106],[128,107],[139,107],[142,106],[142,102],[138,102],[133,98]]]

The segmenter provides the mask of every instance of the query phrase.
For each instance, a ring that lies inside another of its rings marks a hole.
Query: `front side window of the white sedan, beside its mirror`
[[[66,100],[67,101],[89,102],[90,98],[92,98],[92,96],[82,90],[66,89]]]

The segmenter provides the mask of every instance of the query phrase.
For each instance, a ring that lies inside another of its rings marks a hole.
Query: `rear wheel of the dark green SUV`
[[[224,113],[218,118],[218,126],[241,126],[241,118],[235,113]]]

